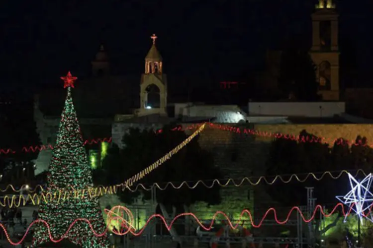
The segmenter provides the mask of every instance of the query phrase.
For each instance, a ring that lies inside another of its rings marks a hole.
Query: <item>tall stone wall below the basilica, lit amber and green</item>
[[[113,142],[120,144],[126,130],[129,127],[136,126],[140,128],[162,127],[161,124],[142,124],[139,126],[139,124],[115,123],[112,126]],[[264,136],[245,134],[243,133],[244,127],[255,128]],[[82,127],[83,132],[85,132],[84,128]],[[236,183],[240,183],[241,179],[245,177],[253,177],[252,179],[255,180],[265,175],[266,159],[270,143],[273,140],[271,133],[280,132],[297,136],[303,129],[316,136],[324,137],[324,141],[331,145],[333,140],[341,137],[355,141],[356,137],[361,135],[366,136],[368,141],[373,140],[373,124],[255,124],[255,126],[241,126],[241,133],[207,126],[198,136],[198,141],[203,149],[207,149],[214,154],[215,165],[221,168],[224,179],[232,178]],[[49,156],[46,157],[50,159]],[[250,199],[248,198],[249,194]],[[224,187],[221,195],[223,201],[220,205],[208,208],[204,203],[198,203],[191,210],[204,215],[206,211],[214,212],[216,210],[227,212],[241,212],[244,208],[265,210],[276,204],[266,193],[264,184],[251,186],[245,182],[242,187]],[[255,199],[255,205],[253,199]],[[259,212],[256,211],[258,215],[260,215]]]

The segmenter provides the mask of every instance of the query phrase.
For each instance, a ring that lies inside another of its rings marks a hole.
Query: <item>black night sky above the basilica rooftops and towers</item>
[[[217,83],[246,80],[261,68],[266,48],[281,48],[289,40],[310,45],[310,13],[316,2],[4,1],[0,8],[2,90],[11,85],[58,84],[59,76],[68,70],[85,78],[101,43],[117,73],[140,77],[152,33],[158,36],[166,73],[213,76]],[[358,84],[367,85],[372,82],[368,73],[372,71],[373,1],[345,0],[337,6],[341,52],[349,58],[356,54]]]

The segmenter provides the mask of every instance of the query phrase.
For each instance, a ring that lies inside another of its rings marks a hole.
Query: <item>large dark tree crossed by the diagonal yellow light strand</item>
[[[182,131],[172,131],[173,127],[175,125],[166,125],[162,132],[129,129],[128,133],[123,136],[123,149],[112,147],[103,161],[102,167],[108,175],[108,183],[122,183],[183,142],[187,134]],[[221,178],[221,174],[214,166],[212,154],[201,149],[197,138],[194,138],[170,160],[138,183],[148,187],[154,183],[166,186],[167,182],[174,182],[177,185],[183,181],[196,182],[216,178]],[[169,186],[166,190],[157,190],[156,199],[158,203],[168,206],[190,205],[195,201],[218,204],[220,202],[219,189],[219,186],[211,189],[201,185],[194,189],[186,186],[174,189]],[[151,197],[149,191],[119,191],[121,200],[126,203],[133,203],[133,200],[140,194],[143,194],[145,199]]]

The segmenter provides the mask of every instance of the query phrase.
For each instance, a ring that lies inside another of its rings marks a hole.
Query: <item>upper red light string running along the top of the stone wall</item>
[[[185,127],[179,126],[172,128],[172,131],[186,131],[198,128],[202,124],[191,124],[187,125]],[[262,136],[262,137],[268,137],[268,138],[284,138],[284,139],[290,139],[290,140],[296,140],[299,142],[310,142],[310,143],[328,143],[328,144],[334,144],[336,142],[337,145],[363,145],[363,146],[370,146],[373,147],[373,145],[369,144],[363,144],[360,140],[356,142],[356,140],[341,140],[341,139],[330,139],[326,137],[300,137],[299,135],[294,134],[283,134],[279,132],[267,132],[267,131],[260,131],[256,129],[250,129],[250,128],[240,128],[238,126],[229,126],[229,125],[222,125],[222,124],[213,124],[208,123],[208,127],[215,128],[215,129],[221,129],[226,131],[233,131],[236,133],[244,133],[247,135],[256,135],[256,136]],[[161,133],[162,129],[158,129],[155,131],[156,133]],[[91,145],[91,144],[97,144],[99,142],[111,142],[112,138],[96,138],[92,140],[86,140],[84,142],[84,145]],[[40,146],[29,146],[29,147],[22,147],[21,152],[38,152],[42,150],[48,150],[53,149],[53,146],[51,144],[47,145],[40,145]],[[0,149],[0,154],[8,154],[8,153],[16,153],[16,151],[13,151],[10,148],[7,149]]]

